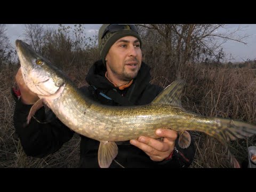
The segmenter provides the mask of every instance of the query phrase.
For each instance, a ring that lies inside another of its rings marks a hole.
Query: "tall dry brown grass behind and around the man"
[[[86,84],[84,74],[89,67],[75,68],[66,72],[78,86]],[[80,141],[77,134],[57,153],[45,158],[27,157],[23,152],[13,127],[14,101],[10,93],[17,70],[17,67],[6,67],[0,71],[0,167],[77,167]],[[153,68],[152,83],[166,87],[177,78],[169,74],[171,69],[159,70]],[[188,65],[179,75],[187,82],[182,98],[187,110],[256,124],[256,70]],[[196,145],[191,167],[230,167],[225,148],[217,140],[199,132],[191,134]],[[229,143],[240,163],[247,159],[247,141],[249,145],[256,145],[255,137]]]

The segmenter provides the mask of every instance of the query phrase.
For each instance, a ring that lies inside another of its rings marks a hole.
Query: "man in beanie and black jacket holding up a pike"
[[[141,38],[135,25],[105,24],[99,30],[101,60],[94,63],[86,76],[88,87],[81,90],[103,105],[145,105],[163,90],[149,84],[150,68],[142,62]],[[31,106],[38,100],[23,82],[20,70],[16,75],[20,99],[14,111],[14,126],[25,153],[44,157],[59,150],[74,132],[54,118],[52,111],[39,109],[30,124],[24,127]],[[143,135],[138,139],[117,142],[118,155],[110,167],[188,167],[193,161],[193,144],[187,149],[177,145],[177,132],[161,129],[162,140]],[[99,141],[81,135],[80,167],[99,167]]]

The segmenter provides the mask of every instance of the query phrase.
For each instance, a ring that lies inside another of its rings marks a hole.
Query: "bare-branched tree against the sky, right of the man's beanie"
[[[165,46],[167,57],[175,61],[176,67],[181,67],[187,61],[196,59],[217,58],[220,60],[224,55],[221,45],[228,40],[243,42],[244,37],[236,36],[235,31],[221,33],[222,24],[150,24],[140,25],[147,32],[155,31],[159,41]],[[221,31],[221,30],[220,30]],[[150,38],[150,37],[149,37]],[[151,38],[151,40],[155,41]]]

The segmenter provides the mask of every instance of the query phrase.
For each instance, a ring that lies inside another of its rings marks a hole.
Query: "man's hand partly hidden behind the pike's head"
[[[21,93],[21,102],[27,104],[27,105],[33,105],[39,98],[37,97],[37,94],[31,92],[27,85],[24,82],[24,79],[21,74],[21,68],[19,68],[16,76],[15,81],[20,89]]]

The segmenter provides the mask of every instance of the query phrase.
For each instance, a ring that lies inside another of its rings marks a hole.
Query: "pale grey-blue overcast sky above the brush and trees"
[[[71,24],[65,24],[71,26]],[[58,28],[58,24],[47,24],[47,27]],[[85,24],[86,34],[95,35],[98,33],[101,24]],[[247,44],[228,41],[223,44],[223,51],[226,53],[227,59],[232,59],[231,61],[243,61],[247,59],[254,60],[256,59],[256,24],[232,24],[227,25],[227,30],[235,30],[238,27],[243,28],[237,33],[237,35],[249,35],[246,39],[243,39]],[[22,39],[25,25],[22,24],[6,24],[6,34],[10,39],[12,45],[14,45],[15,39]],[[231,57],[230,57],[231,55]]]

